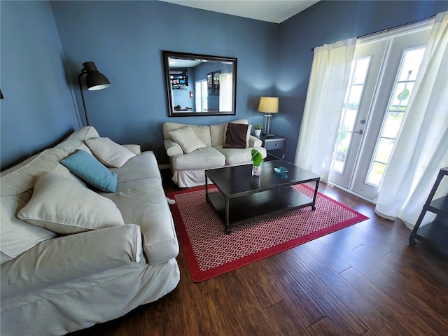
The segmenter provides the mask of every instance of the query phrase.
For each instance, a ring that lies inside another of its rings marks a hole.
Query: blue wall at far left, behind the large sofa
[[[0,1],[0,15],[3,169],[55,144],[80,123],[50,3]]]

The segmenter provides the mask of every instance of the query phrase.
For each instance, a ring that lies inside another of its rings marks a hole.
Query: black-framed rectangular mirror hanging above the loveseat
[[[163,51],[168,116],[235,115],[237,59]]]

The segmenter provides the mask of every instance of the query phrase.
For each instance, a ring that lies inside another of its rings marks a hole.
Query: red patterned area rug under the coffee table
[[[293,186],[313,197],[314,190]],[[218,192],[209,186],[210,192]],[[183,251],[193,281],[200,282],[230,272],[288,248],[328,235],[368,217],[318,193],[316,210],[311,207],[259,219],[232,228],[224,225],[213,206],[205,200],[204,187],[169,193]]]

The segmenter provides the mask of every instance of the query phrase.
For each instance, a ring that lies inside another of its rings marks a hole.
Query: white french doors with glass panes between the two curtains
[[[359,41],[328,182],[369,200],[393,155],[430,34],[430,21]]]

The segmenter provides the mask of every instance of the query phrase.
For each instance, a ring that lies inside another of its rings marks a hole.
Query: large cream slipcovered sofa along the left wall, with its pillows
[[[82,172],[73,158],[94,169]],[[179,244],[153,152],[83,127],[0,181],[2,336],[64,335],[179,283]]]

